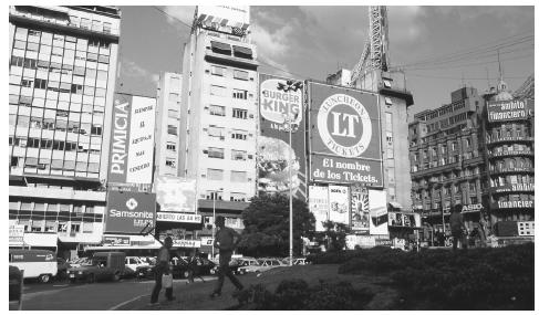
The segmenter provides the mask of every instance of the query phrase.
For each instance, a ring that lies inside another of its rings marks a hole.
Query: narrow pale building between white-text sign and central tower
[[[157,86],[154,178],[178,176],[180,97],[182,74],[163,73]]]

